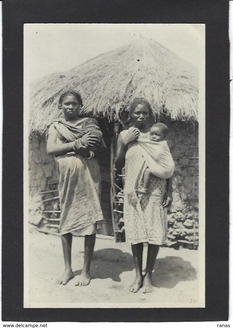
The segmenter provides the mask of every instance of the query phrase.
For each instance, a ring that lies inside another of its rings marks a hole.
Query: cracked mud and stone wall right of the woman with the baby
[[[168,246],[198,246],[198,126],[170,122],[168,144],[175,161]]]

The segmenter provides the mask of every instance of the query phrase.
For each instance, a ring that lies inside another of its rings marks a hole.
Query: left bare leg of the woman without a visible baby
[[[65,261],[65,271],[60,279],[57,280],[58,284],[66,285],[67,282],[74,277],[74,273],[71,268],[71,245],[72,234],[61,235],[61,243],[63,249],[63,256]]]

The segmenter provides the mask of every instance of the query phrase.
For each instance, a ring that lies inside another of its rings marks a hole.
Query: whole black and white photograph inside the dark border
[[[24,24],[24,307],[205,307],[205,24]]]

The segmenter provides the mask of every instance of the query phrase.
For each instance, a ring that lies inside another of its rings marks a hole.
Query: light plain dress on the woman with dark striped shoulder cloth
[[[82,120],[78,122],[82,126]],[[56,133],[53,124],[48,134]],[[56,139],[57,144],[65,141]],[[92,235],[97,222],[103,220],[100,205],[101,174],[96,158],[86,159],[79,154],[55,156],[60,201],[60,234]]]

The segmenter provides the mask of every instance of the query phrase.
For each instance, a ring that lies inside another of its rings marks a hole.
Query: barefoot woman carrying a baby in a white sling
[[[131,243],[136,277],[129,287],[136,293],[153,291],[151,274],[159,251],[167,237],[167,207],[172,203],[172,178],[151,177],[149,193],[140,200],[136,191],[143,185],[143,155],[137,143],[139,135],[148,138],[151,127],[151,105],[144,98],[135,98],[129,106],[131,126],[122,131],[117,141],[115,165],[125,167],[124,222],[126,241]],[[134,190],[134,195],[132,193]],[[140,207],[140,211],[138,210]],[[143,243],[148,242],[146,273],[142,276]]]

